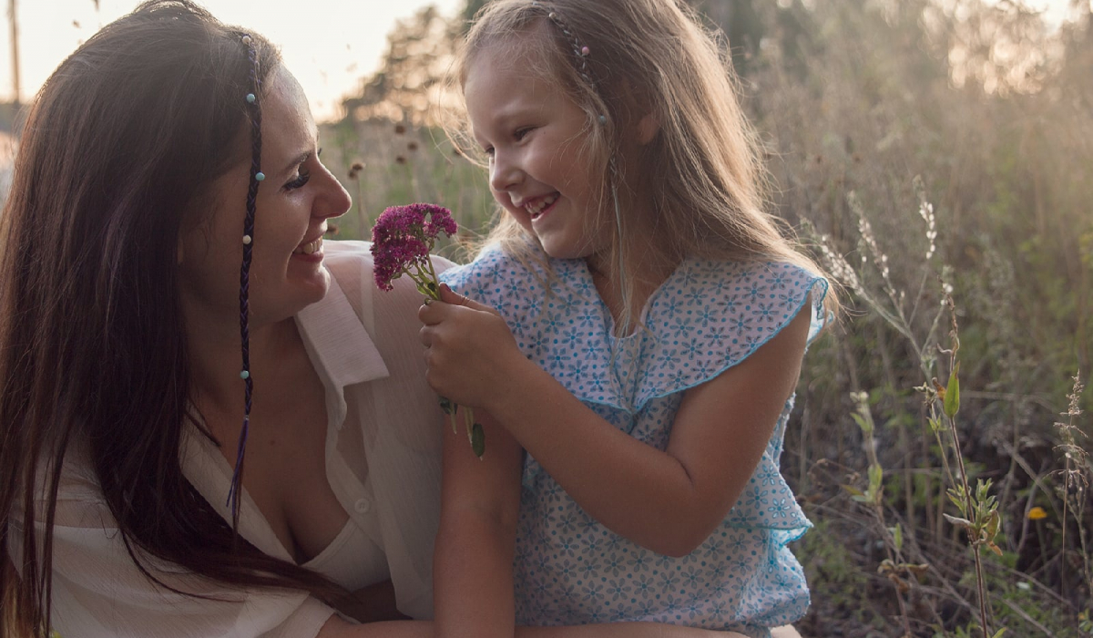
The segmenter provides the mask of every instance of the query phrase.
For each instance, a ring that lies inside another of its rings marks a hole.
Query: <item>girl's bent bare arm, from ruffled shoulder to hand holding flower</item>
[[[659,554],[683,556],[740,497],[792,393],[809,304],[739,364],[686,392],[665,451],[620,431],[520,353],[504,321],[444,291],[420,313],[428,382],[483,406],[588,512]]]

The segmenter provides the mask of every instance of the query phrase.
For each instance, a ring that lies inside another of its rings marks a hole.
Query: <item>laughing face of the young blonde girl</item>
[[[474,139],[489,158],[490,189],[548,255],[603,254],[611,231],[601,214],[600,171],[583,152],[587,117],[560,86],[530,70],[548,67],[529,55],[514,55],[508,43],[490,46],[467,71],[463,95]]]

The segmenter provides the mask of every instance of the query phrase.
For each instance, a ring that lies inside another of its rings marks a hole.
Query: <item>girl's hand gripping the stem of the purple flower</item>
[[[440,301],[421,306],[425,380],[453,402],[489,409],[515,370],[530,363],[496,310],[440,285]]]

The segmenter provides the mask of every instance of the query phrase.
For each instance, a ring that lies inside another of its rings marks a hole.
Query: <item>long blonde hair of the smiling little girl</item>
[[[604,259],[630,312],[621,326],[638,318],[632,303],[638,282],[630,274],[650,255],[669,264],[689,256],[787,262],[823,275],[764,210],[762,148],[719,40],[680,0],[493,0],[475,16],[457,57],[460,86],[475,56],[490,47],[544,61],[546,68],[529,71],[542,73],[585,112],[581,152],[602,176],[601,209],[614,216],[622,206]],[[624,174],[611,159],[646,117],[659,130]],[[467,118],[449,134],[474,156]],[[628,210],[625,202],[634,197],[648,204]],[[635,219],[634,211],[649,219]],[[537,240],[508,214],[485,240],[492,243],[521,260],[539,253]],[[825,305],[837,310],[834,295]]]

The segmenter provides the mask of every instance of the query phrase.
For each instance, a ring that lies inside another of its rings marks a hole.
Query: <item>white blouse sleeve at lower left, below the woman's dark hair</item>
[[[240,590],[145,557],[142,562],[163,583],[197,596],[153,582],[130,557],[95,482],[69,465],[52,544],[50,623],[62,637],[313,637],[334,613],[303,591]],[[14,523],[9,550],[17,566],[22,521]],[[44,525],[35,526],[40,543]]]

